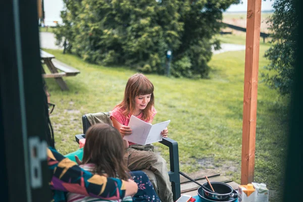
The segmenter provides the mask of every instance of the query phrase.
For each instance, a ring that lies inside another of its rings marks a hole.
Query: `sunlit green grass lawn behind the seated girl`
[[[236,40],[232,36],[220,39]],[[244,44],[245,40],[238,42]],[[260,72],[268,64],[263,57],[268,48],[269,44],[261,43]],[[68,154],[78,148],[74,135],[82,133],[82,115],[112,110],[123,98],[127,79],[136,72],[127,67],[88,64],[62,51],[45,51],[81,71],[75,77],[64,78],[69,91],[61,91],[54,79],[46,79],[51,101],[56,104],[51,115],[56,147]],[[154,123],[171,120],[169,137],[178,141],[181,171],[213,168],[240,183],[244,57],[244,51],[214,55],[209,63],[210,79],[147,75],[155,86],[158,114]],[[287,102],[287,98],[259,82],[255,181],[266,183],[271,193],[282,183]],[[167,147],[155,145],[169,161]],[[272,201],[278,201],[279,194],[271,193]]]

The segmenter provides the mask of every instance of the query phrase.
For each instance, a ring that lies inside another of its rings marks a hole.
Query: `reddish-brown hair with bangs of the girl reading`
[[[123,112],[124,116],[127,117],[129,114],[132,115],[135,112],[135,96],[146,94],[151,95],[149,103],[147,104],[146,108],[142,110],[142,119],[144,121],[149,120],[151,117],[153,117],[152,109],[155,103],[154,85],[143,74],[134,74],[128,79],[123,100],[116,107],[125,108],[125,111]]]

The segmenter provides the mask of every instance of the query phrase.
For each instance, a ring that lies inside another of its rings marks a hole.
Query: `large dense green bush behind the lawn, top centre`
[[[239,0],[65,0],[65,23],[58,42],[86,61],[124,64],[144,73],[207,77],[211,40],[220,31],[222,12]]]

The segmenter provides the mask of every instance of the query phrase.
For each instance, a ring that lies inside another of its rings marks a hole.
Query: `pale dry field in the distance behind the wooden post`
[[[267,21],[272,14],[273,13],[270,12],[261,13],[261,32],[265,32],[265,33],[270,32],[270,30],[268,29],[270,24],[267,23]],[[246,12],[223,13],[223,22],[227,24],[236,25],[239,27],[246,27]],[[230,28],[225,28],[224,31],[232,31],[234,34],[243,33],[243,32],[232,30]]]

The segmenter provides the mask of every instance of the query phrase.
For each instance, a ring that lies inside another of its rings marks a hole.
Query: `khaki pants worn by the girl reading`
[[[169,181],[166,161],[154,152],[154,145],[130,145],[124,155],[127,167],[131,171],[150,170],[155,175],[146,172],[162,202],[173,202],[173,192]],[[155,180],[156,177],[156,180]]]

